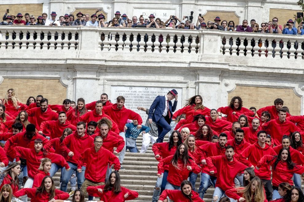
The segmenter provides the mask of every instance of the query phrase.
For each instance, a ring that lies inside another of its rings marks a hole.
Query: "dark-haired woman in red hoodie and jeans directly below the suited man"
[[[161,161],[162,159],[173,155],[180,144],[182,144],[181,134],[177,130],[174,130],[169,138],[169,142],[156,143],[152,145],[155,159]],[[164,172],[162,172],[161,176],[157,178],[152,197],[153,202],[157,202],[159,194],[165,189],[168,172],[169,166],[166,165]]]

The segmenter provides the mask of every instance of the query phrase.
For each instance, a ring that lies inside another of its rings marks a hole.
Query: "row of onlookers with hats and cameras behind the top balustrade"
[[[35,18],[35,16],[25,13],[23,15],[18,13],[16,16],[8,15],[6,12],[2,18],[0,25],[46,25],[46,26],[92,26],[92,27],[135,27],[135,28],[171,28],[171,29],[218,29],[222,31],[231,32],[259,32],[259,33],[272,33],[272,34],[292,34],[292,35],[303,35],[304,30],[302,26],[303,17],[301,22],[296,27],[297,17],[294,21],[288,20],[284,24],[279,24],[279,19],[274,17],[272,21],[262,22],[261,24],[256,23],[254,19],[250,21],[243,20],[242,24],[237,24],[234,21],[221,20],[220,17],[215,17],[214,21],[207,21],[203,16],[197,17],[197,22],[193,21],[193,16],[183,16],[179,19],[177,16],[171,15],[165,22],[160,18],[156,18],[154,14],[150,14],[148,18],[144,18],[142,15],[128,17],[127,14],[121,14],[116,11],[114,18],[106,21],[106,17],[99,9],[92,15],[83,14],[81,12],[76,14],[65,14],[57,18],[56,12],[50,14],[51,18],[48,19],[47,13],[42,13],[41,16]],[[57,19],[56,19],[57,18]],[[90,20],[91,18],[91,20]]]

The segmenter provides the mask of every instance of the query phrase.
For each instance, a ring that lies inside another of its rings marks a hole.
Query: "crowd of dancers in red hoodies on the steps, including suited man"
[[[121,186],[119,170],[126,150],[144,154],[150,143],[159,161],[152,201],[203,201],[210,186],[213,202],[304,201],[304,116],[291,115],[280,98],[259,110],[239,96],[218,109],[194,95],[175,111],[178,101],[172,89],[149,109],[138,106],[148,114],[143,124],[123,96],[52,105],[37,95],[23,104],[8,89],[0,99],[0,201],[84,202],[87,193],[89,201],[133,200],[138,193]]]

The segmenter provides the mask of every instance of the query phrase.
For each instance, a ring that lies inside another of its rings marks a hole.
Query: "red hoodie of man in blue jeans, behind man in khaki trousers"
[[[75,131],[71,135],[68,135],[60,144],[60,149],[64,152],[66,161],[78,164],[81,153],[87,148],[94,146],[94,138],[84,133],[84,137],[80,137]],[[73,156],[68,156],[68,153],[72,151]]]

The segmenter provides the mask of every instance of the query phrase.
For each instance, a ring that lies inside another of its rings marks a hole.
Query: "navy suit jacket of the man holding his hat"
[[[165,95],[166,96],[166,95]],[[152,121],[154,122],[158,122],[158,120],[162,117],[162,114],[164,113],[165,109],[166,109],[166,98],[165,96],[160,96],[158,95],[151,107],[150,107],[150,110],[149,110],[149,115],[148,115],[148,118],[152,118]],[[166,121],[170,124],[171,121],[172,121],[172,116],[173,116],[173,113],[176,109],[176,106],[177,106],[177,101],[174,100],[174,103],[173,103],[173,106],[172,106],[172,102],[169,101],[169,111],[170,111],[170,114],[171,114],[171,117],[169,119],[169,117],[166,119]],[[154,112],[153,112],[154,110]],[[168,116],[168,114],[167,114]]]

